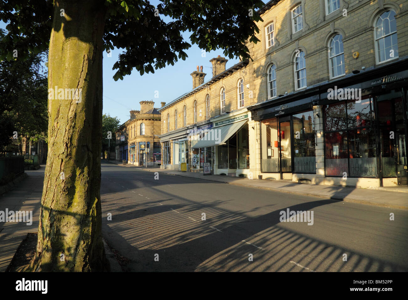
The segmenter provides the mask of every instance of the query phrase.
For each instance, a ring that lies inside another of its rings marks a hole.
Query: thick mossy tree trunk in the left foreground
[[[105,271],[109,262],[101,231],[100,137],[106,10],[103,0],[55,0],[54,7],[48,64],[49,151],[37,251],[27,270]],[[58,91],[56,98],[50,93],[55,87],[64,89],[64,99]],[[65,89],[82,93],[69,97]]]

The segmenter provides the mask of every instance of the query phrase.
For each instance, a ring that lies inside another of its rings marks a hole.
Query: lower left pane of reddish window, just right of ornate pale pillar
[[[324,142],[326,176],[343,176],[344,172],[348,174],[347,132],[325,133]]]

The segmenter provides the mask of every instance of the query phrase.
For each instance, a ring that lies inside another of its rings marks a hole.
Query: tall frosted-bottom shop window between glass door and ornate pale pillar
[[[293,171],[316,173],[315,123],[313,111],[292,116],[293,123]]]

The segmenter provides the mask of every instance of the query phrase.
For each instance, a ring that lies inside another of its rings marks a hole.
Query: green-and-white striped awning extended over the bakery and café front
[[[223,144],[224,142],[226,142],[226,140],[228,140],[228,138],[233,136],[233,134],[237,132],[247,121],[248,120],[242,120],[220,127],[211,128],[207,131],[204,138],[199,140],[191,148],[197,149]]]

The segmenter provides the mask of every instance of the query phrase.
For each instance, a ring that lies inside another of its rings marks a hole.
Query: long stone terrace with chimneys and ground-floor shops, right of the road
[[[226,60],[212,59],[210,80],[197,69],[193,90],[159,110],[163,167],[208,161],[232,176],[407,184],[405,4],[268,2],[261,42],[247,44],[253,61],[224,71]]]

